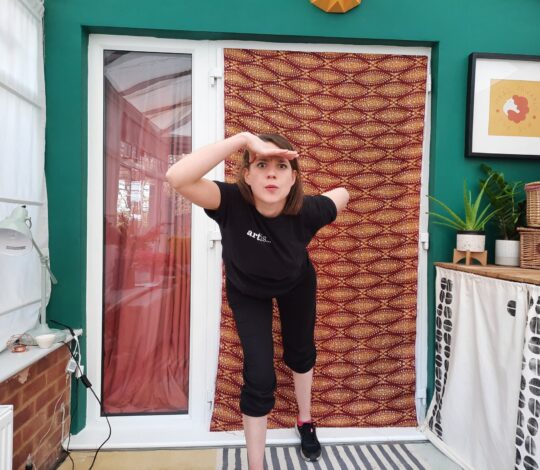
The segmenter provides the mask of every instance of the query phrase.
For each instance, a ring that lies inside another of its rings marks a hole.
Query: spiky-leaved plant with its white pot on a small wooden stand
[[[489,183],[490,179],[491,176],[486,179],[486,183]],[[480,189],[480,192],[473,200],[471,192],[467,191],[467,181],[463,181],[464,218],[458,216],[456,212],[450,209],[444,202],[433,196],[428,196],[446,213],[446,215],[442,215],[430,211],[429,214],[437,219],[434,223],[457,230],[456,249],[459,251],[484,251],[486,243],[486,234],[484,232],[485,226],[493,217],[495,217],[498,210],[492,208],[490,203],[483,209],[480,208],[485,191],[484,187]]]

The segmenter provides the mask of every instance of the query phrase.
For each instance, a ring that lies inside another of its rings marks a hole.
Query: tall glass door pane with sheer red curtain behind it
[[[192,56],[104,51],[102,413],[187,413]],[[89,188],[89,191],[92,189]]]

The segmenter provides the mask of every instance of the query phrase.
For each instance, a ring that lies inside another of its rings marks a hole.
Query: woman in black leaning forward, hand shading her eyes
[[[203,178],[241,149],[236,184]],[[311,461],[321,455],[311,420],[316,275],[306,247],[346,206],[349,194],[336,188],[304,196],[297,158],[280,135],[242,132],[185,156],[167,172],[169,183],[221,229],[227,298],[244,351],[240,409],[250,470],[263,468],[267,415],[274,406],[273,298],[283,360],[293,373],[301,454]]]

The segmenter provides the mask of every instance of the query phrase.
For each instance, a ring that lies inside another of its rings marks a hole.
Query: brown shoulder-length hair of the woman
[[[294,150],[291,143],[282,135],[260,134],[257,137],[264,142],[271,142],[281,149]],[[291,164],[291,168],[296,171],[296,180],[291,187],[291,191],[287,195],[287,200],[285,201],[285,206],[283,207],[283,211],[281,213],[284,215],[296,215],[298,212],[300,212],[304,202],[304,187],[302,186],[302,175],[300,172],[300,165],[298,164],[298,158],[289,160],[289,163]],[[249,166],[249,151],[245,150],[242,157],[242,163],[236,176],[236,184],[238,185],[240,194],[242,194],[244,199],[250,204],[255,205],[251,188],[244,179],[244,168],[249,168]]]

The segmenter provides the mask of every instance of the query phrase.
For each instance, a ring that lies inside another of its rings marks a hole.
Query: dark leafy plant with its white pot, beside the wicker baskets
[[[526,202],[521,181],[511,183],[505,180],[504,174],[495,171],[486,164],[481,165],[488,176],[480,180],[491,205],[497,209],[492,219],[496,225],[499,238],[495,240],[495,264],[502,266],[519,266],[519,232],[518,226],[525,225]]]

